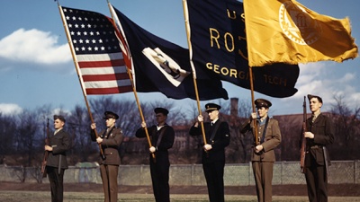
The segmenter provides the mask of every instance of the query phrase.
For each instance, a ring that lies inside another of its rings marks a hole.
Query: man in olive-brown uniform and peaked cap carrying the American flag
[[[103,180],[104,202],[118,201],[118,172],[121,159],[119,155],[119,146],[121,145],[123,136],[122,130],[115,126],[115,122],[119,116],[112,111],[105,111],[103,119],[106,122],[100,136],[95,135],[96,125],[91,124],[91,139],[100,144],[103,148],[103,155],[100,158],[100,174]]]

